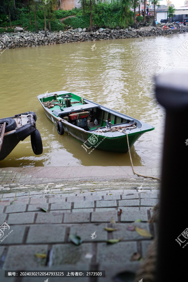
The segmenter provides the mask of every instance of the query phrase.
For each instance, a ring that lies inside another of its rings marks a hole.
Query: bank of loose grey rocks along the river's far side
[[[13,32],[1,34],[0,49],[19,48],[19,47],[33,47],[51,44],[61,44],[69,42],[82,42],[94,40],[107,40],[107,39],[123,39],[123,38],[137,38],[146,36],[159,36],[165,34],[184,33],[188,32],[188,28],[183,25],[179,29],[171,29],[173,24],[169,25],[169,29],[163,29],[164,24],[157,27],[151,25],[133,29],[98,29],[97,31],[87,31],[86,29],[69,29],[60,32],[47,32],[47,37],[44,37],[44,31],[39,31],[38,34],[29,31]],[[3,48],[2,48],[3,46]]]

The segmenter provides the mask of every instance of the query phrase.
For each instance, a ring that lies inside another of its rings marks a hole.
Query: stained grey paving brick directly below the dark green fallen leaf
[[[90,263],[91,259],[86,259],[86,253],[92,253],[91,243],[84,243],[80,246],[74,244],[54,245],[52,247],[52,266],[62,266],[66,264]]]

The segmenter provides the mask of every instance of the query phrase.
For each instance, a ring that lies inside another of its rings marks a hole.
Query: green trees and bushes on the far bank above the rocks
[[[25,30],[38,33],[39,29],[45,31],[60,31],[67,28],[90,28],[94,25],[97,28],[111,28],[116,26],[126,28],[134,26],[137,22],[143,21],[142,16],[136,17],[135,9],[140,1],[145,0],[80,0],[81,8],[74,8],[70,11],[55,10],[57,1],[46,0],[41,5],[34,0],[27,0],[27,6],[21,0],[0,0],[0,33],[11,32],[15,26],[20,26]],[[153,3],[158,4],[157,0]],[[134,9],[133,12],[130,8]],[[73,16],[73,17],[70,17]],[[69,17],[69,18],[66,18]],[[61,18],[66,18],[63,22]]]

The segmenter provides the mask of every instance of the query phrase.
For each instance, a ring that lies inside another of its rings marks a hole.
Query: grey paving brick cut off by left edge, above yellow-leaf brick
[[[8,234],[10,231],[12,232]],[[8,236],[3,240],[3,242],[1,242],[1,239],[0,239],[1,245],[21,244],[23,241],[24,232],[25,232],[24,225],[10,225],[10,229],[4,231],[4,236],[6,235]]]

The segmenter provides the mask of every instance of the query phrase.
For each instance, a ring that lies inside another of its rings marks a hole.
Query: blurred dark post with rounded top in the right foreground
[[[188,243],[188,73],[176,70],[162,74],[155,83],[157,100],[166,109],[156,282],[185,281],[188,244],[182,247]]]

